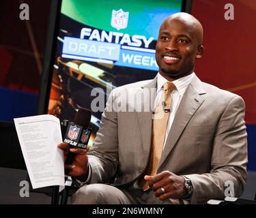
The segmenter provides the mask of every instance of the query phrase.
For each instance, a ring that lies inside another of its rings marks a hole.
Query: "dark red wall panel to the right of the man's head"
[[[234,20],[225,20],[226,3]],[[195,72],[246,102],[246,123],[256,123],[256,1],[193,0],[191,14],[203,25],[205,53]]]

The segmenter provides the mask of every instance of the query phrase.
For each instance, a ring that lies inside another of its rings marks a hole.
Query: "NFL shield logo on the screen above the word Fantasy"
[[[124,12],[121,8],[118,11],[112,10],[111,26],[115,29],[126,29],[128,25],[129,12]]]

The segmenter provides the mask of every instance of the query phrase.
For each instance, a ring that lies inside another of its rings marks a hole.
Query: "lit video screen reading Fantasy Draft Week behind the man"
[[[115,87],[154,78],[155,47],[165,18],[181,12],[182,0],[61,1],[57,48],[48,114],[74,119],[79,107],[91,109]],[[93,111],[91,146],[102,111]]]

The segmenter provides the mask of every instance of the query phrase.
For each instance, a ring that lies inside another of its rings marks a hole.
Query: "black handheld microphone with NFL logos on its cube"
[[[86,149],[91,136],[92,129],[88,128],[91,120],[91,110],[79,108],[74,116],[73,122],[63,121],[63,129],[66,129],[66,134],[63,142],[70,145],[70,148]],[[74,153],[68,151],[66,164],[71,164],[74,159]]]

